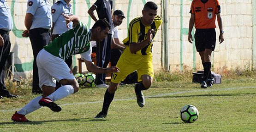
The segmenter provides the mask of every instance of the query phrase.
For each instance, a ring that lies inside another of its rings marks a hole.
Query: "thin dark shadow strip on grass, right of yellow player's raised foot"
[[[161,97],[146,97],[146,98],[186,98],[186,97],[205,97],[205,96],[242,96],[242,95],[256,95],[256,93],[235,93],[235,94],[197,94],[197,95],[183,95],[183,96],[161,96]]]

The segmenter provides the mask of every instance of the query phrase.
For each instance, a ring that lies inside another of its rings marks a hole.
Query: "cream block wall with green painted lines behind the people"
[[[126,19],[119,27],[119,37],[127,37],[128,23],[135,17],[142,16],[143,5],[149,0],[113,0],[114,9],[124,11]],[[164,0],[152,0],[158,7],[158,14],[163,16],[161,9]],[[153,64],[156,71],[163,69],[162,28],[168,29],[168,60],[170,71],[182,71],[184,69],[202,69],[200,56],[196,52],[194,44],[187,41],[188,23],[190,19],[190,5],[192,0],[167,0],[167,26],[161,27],[155,37],[153,47]],[[15,53],[15,66],[20,76],[30,76],[32,70],[33,54],[29,38],[21,37],[25,29],[24,16],[26,13],[27,0],[7,1],[13,14],[14,28],[11,32],[12,48]],[[53,0],[51,1],[53,2]],[[73,12],[80,17],[89,27],[94,21],[87,11],[95,0],[72,0]],[[221,16],[224,26],[225,41],[222,44],[216,42],[216,49],[212,56],[214,69],[226,66],[232,69],[240,66],[247,68],[255,63],[256,56],[254,45],[256,43],[256,2],[253,0],[219,0]],[[96,14],[96,12],[95,12]],[[217,24],[217,21],[216,21]],[[217,24],[218,25],[218,24]],[[218,26],[217,26],[218,27]],[[254,30],[254,31],[253,31]],[[216,28],[217,40],[219,29]],[[253,37],[254,35],[254,37]],[[73,60],[77,64],[76,55]],[[247,67],[246,67],[247,66]],[[254,65],[255,66],[255,65]],[[83,65],[83,71],[86,71]]]

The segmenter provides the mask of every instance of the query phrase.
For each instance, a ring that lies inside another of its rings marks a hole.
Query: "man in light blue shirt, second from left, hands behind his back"
[[[32,93],[42,93],[39,87],[36,56],[51,39],[52,15],[49,0],[28,0],[25,27],[27,30],[22,33],[22,36],[30,37],[34,56]]]

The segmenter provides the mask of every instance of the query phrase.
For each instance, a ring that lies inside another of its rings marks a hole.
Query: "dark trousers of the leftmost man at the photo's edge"
[[[9,91],[6,89],[6,85],[5,85],[4,68],[6,65],[7,57],[10,53],[11,42],[10,42],[9,33],[0,29],[0,34],[4,39],[4,45],[0,47],[0,95],[5,96],[10,94]]]

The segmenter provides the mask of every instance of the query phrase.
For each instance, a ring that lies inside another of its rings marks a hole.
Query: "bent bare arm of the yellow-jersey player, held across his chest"
[[[132,54],[136,53],[137,51],[143,49],[145,46],[147,46],[150,41],[153,38],[153,33],[155,33],[155,31],[153,29],[149,29],[148,33],[147,33],[147,39],[143,40],[141,43],[132,43],[130,44],[130,51]]]

